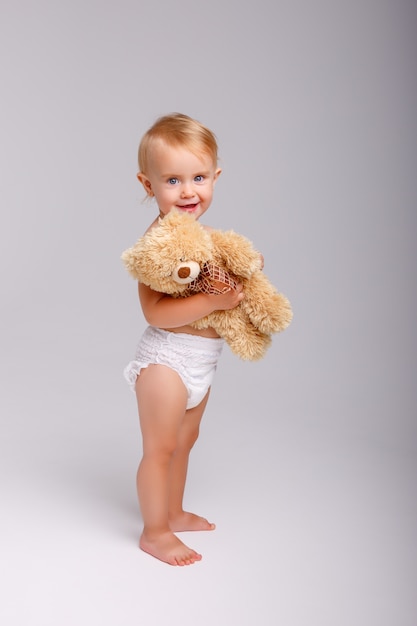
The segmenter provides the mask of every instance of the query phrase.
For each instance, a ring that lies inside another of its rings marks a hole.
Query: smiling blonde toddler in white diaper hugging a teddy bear
[[[159,218],[171,209],[199,219],[210,206],[221,173],[214,134],[182,114],[161,117],[139,146],[138,179],[155,198]],[[147,231],[147,232],[148,232]],[[139,300],[149,326],[125,376],[136,391],[143,456],[137,473],[143,532],[139,546],[171,565],[190,565],[201,554],[176,535],[213,530],[204,517],[184,511],[188,458],[220,357],[223,339],[190,324],[213,311],[233,309],[242,285],[221,295],[198,293],[172,298],[139,283]]]

